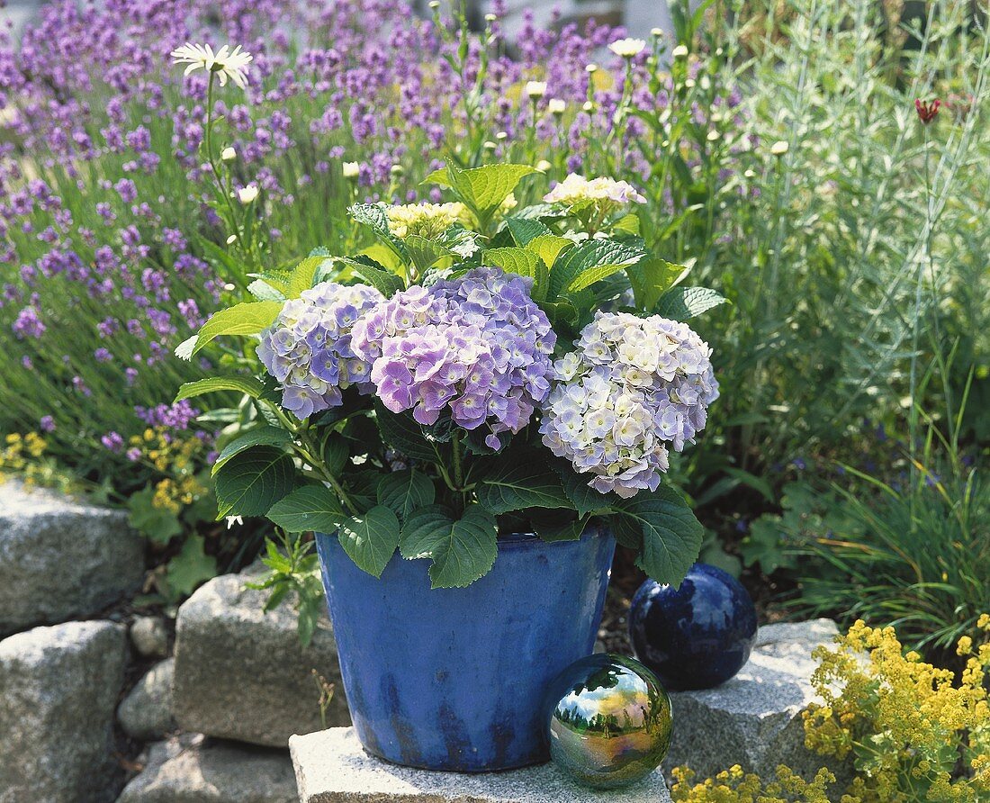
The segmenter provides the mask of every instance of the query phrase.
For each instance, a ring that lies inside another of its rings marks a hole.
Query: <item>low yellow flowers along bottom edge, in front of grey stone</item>
[[[777,767],[776,780],[765,786],[759,776],[743,773],[739,764],[696,784],[694,772],[687,767],[676,767],[673,776],[670,797],[674,803],[829,803],[829,784],[836,780],[822,768],[809,783],[783,765]],[[845,798],[842,803],[847,803]]]

